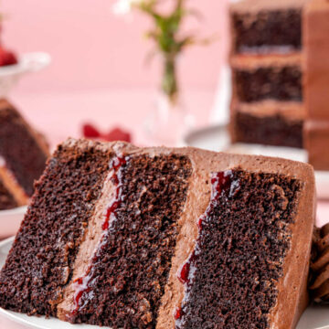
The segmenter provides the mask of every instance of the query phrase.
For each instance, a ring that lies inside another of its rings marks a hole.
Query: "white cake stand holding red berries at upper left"
[[[44,52],[33,52],[19,56],[18,63],[0,67],[0,98],[5,97],[24,75],[48,67],[50,55]]]

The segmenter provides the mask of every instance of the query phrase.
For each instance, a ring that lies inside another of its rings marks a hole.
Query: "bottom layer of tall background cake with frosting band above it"
[[[280,102],[232,103],[232,142],[302,148],[304,111],[298,104]]]

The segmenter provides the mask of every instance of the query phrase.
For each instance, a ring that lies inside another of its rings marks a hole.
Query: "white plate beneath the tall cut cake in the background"
[[[249,143],[230,143],[226,125],[218,124],[186,134],[187,146],[199,147],[210,151],[222,151],[238,154],[261,154],[278,156],[295,161],[307,162],[307,152],[292,147],[265,146]],[[315,171],[317,196],[329,199],[329,171]]]

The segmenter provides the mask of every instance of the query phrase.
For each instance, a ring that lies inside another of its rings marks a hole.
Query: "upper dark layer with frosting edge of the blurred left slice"
[[[0,155],[27,196],[33,194],[34,181],[42,174],[48,157],[47,147],[16,109],[0,101]]]

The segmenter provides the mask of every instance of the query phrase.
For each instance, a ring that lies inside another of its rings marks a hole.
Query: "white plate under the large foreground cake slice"
[[[5,258],[14,238],[6,239],[0,242],[0,268],[5,263]],[[5,311],[0,308],[0,324],[1,317],[5,317],[9,321],[20,324],[22,328],[36,328],[36,329],[74,329],[74,328],[102,328],[95,325],[89,324],[68,324],[61,322],[58,319],[50,318],[45,319],[44,317],[27,316],[26,314],[20,314],[15,312]],[[296,329],[329,329],[329,306],[309,306],[307,310],[302,314],[302,318],[297,325]]]

